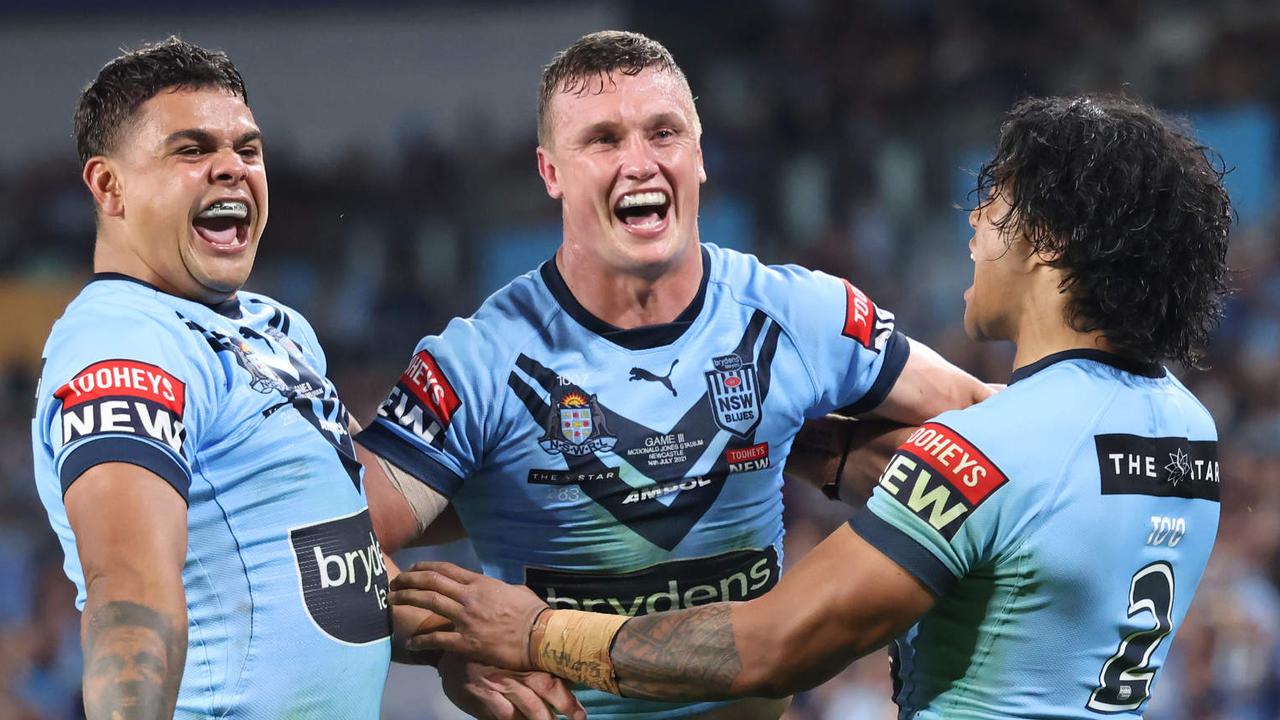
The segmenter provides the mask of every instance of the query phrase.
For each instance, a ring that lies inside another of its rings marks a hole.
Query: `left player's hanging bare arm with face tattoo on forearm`
[[[105,462],[65,496],[84,569],[81,616],[90,720],[173,717],[187,657],[187,506],[136,465]]]

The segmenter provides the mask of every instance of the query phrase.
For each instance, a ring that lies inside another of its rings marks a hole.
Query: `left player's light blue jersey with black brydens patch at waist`
[[[128,462],[187,500],[187,664],[177,717],[378,717],[387,573],[347,410],[297,313],[218,307],[97,275],[45,347],[36,483],[84,606],[63,493]]]

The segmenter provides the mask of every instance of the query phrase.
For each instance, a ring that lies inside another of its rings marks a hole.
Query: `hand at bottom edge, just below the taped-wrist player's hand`
[[[445,653],[438,667],[449,701],[480,720],[554,720],[548,706],[586,720],[564,680],[547,673],[512,673],[454,653]]]

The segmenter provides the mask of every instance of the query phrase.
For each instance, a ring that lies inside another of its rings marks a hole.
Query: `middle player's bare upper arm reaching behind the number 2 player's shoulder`
[[[911,354],[888,396],[869,414],[908,425],[982,402],[993,389],[914,340]]]

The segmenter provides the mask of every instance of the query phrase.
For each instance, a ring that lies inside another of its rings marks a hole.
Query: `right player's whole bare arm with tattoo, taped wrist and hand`
[[[428,607],[454,624],[410,647],[465,652],[512,669],[536,664],[602,688],[613,679],[626,697],[669,701],[783,697],[812,688],[900,634],[934,602],[849,525],[756,600],[625,621],[550,611],[529,588],[447,562],[417,564],[392,589],[393,603]],[[553,626],[558,618],[576,625]],[[614,623],[622,623],[617,634]],[[611,648],[609,662],[598,648]]]

